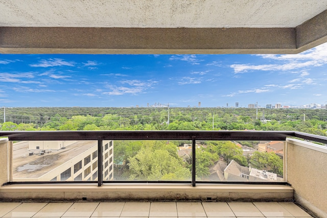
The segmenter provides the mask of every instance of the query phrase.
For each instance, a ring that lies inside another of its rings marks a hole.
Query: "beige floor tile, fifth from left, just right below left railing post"
[[[125,202],[101,202],[91,217],[120,216]]]

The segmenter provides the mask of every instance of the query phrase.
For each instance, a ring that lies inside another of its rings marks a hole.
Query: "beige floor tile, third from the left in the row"
[[[73,203],[49,203],[37,212],[33,217],[62,216]]]

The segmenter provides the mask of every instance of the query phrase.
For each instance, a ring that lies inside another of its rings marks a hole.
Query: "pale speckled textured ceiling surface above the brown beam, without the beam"
[[[289,28],[327,0],[0,0],[0,27]]]

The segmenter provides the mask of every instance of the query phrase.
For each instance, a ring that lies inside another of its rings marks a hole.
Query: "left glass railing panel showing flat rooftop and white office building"
[[[98,141],[17,141],[13,181],[97,181]]]

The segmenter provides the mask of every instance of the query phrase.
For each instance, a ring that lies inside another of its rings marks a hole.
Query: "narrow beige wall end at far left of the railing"
[[[12,181],[12,141],[0,138],[0,186]]]

